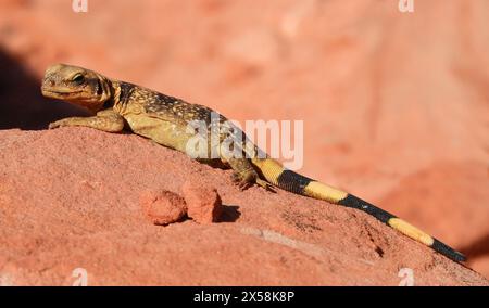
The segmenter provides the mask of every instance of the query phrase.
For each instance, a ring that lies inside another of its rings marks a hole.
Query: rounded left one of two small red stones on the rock
[[[141,194],[140,204],[145,215],[154,224],[166,226],[179,221],[187,213],[184,198],[179,195],[163,191],[146,191]]]

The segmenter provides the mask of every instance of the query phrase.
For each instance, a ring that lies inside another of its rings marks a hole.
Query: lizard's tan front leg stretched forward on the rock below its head
[[[49,129],[66,126],[85,126],[108,132],[120,132],[124,128],[124,118],[113,110],[104,110],[91,117],[67,117],[49,125]]]

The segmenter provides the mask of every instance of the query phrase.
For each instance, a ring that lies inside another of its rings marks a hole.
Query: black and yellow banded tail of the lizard
[[[297,172],[288,170],[280,163],[272,158],[253,158],[252,163],[259,169],[261,176],[263,176],[264,179],[283,190],[300,195],[314,197],[317,200],[324,200],[333,204],[360,209],[377,218],[392,229],[396,229],[399,232],[408,235],[409,238],[423,243],[428,247],[431,247],[434,251],[454,261],[465,261],[465,256],[463,254],[449,247],[431,235],[421,231],[416,227],[393,216],[392,214],[378,208],[375,205],[369,204],[352,194],[328,187],[326,184],[301,176]]]

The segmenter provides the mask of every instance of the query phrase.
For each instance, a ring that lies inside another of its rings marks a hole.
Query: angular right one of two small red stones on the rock
[[[212,223],[218,220],[223,208],[217,190],[208,187],[196,185],[187,181],[181,187],[187,215],[198,223]]]

